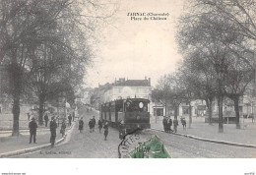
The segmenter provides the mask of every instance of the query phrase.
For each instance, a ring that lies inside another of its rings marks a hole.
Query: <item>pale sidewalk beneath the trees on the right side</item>
[[[187,128],[185,130],[183,130],[180,120],[178,121],[179,126],[177,128],[177,133],[203,139],[256,146],[256,123],[251,123],[251,119],[243,120],[240,118],[241,129],[236,129],[235,124],[224,124],[224,133],[219,133],[218,124],[209,125],[204,122],[205,120],[202,117],[193,117],[191,128],[189,128],[188,121],[188,118],[186,118]],[[153,129],[163,130],[162,122],[160,120],[157,121],[156,124],[156,120],[151,119],[151,126]]]

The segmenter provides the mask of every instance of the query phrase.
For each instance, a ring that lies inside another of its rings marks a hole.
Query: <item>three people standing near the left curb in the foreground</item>
[[[29,123],[29,128],[30,128],[30,144],[32,144],[32,140],[33,140],[33,143],[36,144],[36,129],[37,129],[37,124],[35,122],[35,119],[34,117],[32,117],[32,121]],[[56,123],[56,119],[55,117],[51,117],[51,121],[50,121],[50,144],[51,146],[54,146],[55,144],[55,139],[56,139],[56,136],[57,136],[57,133],[56,133],[56,130],[57,130],[57,123]],[[62,122],[62,125],[61,125],[61,133],[62,133],[62,136],[65,135],[65,129],[66,129],[66,124],[65,124],[65,121]]]

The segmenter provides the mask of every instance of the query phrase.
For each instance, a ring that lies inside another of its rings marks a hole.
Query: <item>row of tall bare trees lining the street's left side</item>
[[[91,36],[115,11],[108,7],[90,0],[0,1],[0,65],[8,72],[13,136],[19,135],[22,96],[36,96],[39,124],[46,100],[65,92],[74,101],[94,56]]]

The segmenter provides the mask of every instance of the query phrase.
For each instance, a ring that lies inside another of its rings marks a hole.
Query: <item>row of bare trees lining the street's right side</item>
[[[224,97],[233,101],[239,129],[239,98],[255,89],[255,9],[253,0],[191,0],[179,19],[176,40],[184,59],[172,87],[182,94],[180,101],[204,99],[210,124],[217,98],[219,132]]]

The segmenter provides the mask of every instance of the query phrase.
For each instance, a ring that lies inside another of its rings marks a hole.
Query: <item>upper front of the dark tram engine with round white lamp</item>
[[[148,103],[144,101],[127,101],[127,112],[148,112]]]

